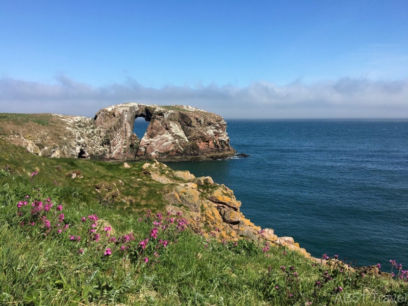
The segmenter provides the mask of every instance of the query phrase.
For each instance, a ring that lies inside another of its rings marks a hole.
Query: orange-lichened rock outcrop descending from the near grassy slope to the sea
[[[277,237],[270,228],[262,229],[246,219],[240,212],[241,202],[234,192],[225,185],[214,183],[210,176],[194,177],[189,171],[173,171],[156,161],[145,163],[142,170],[150,179],[170,184],[165,192],[167,211],[172,214],[182,211],[195,232],[220,241],[247,238],[259,243],[284,245],[310,257],[292,237]]]

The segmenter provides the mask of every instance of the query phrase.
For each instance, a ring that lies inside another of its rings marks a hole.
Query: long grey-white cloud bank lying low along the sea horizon
[[[408,118],[408,80],[343,78],[305,85],[143,86],[133,79],[101,87],[65,76],[54,84],[0,79],[0,112],[93,115],[105,106],[137,102],[190,105],[224,118]]]

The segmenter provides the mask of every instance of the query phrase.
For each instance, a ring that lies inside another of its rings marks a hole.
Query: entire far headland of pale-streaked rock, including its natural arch
[[[23,114],[4,118],[12,115]],[[133,133],[137,117],[150,121],[142,139]],[[188,106],[127,103],[103,108],[94,118],[27,114],[26,120],[10,120],[13,129],[2,118],[2,138],[46,157],[183,161],[226,158],[235,152],[221,116]]]

